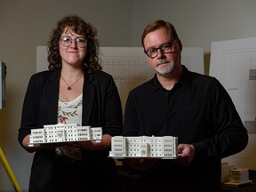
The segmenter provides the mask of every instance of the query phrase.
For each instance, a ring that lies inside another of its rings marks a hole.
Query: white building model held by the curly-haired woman
[[[44,128],[32,129],[29,137],[29,147],[34,144],[71,142],[83,140],[100,141],[102,128],[80,126],[78,124],[48,124]]]

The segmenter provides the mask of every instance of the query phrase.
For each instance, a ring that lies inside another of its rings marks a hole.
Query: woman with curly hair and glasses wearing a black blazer
[[[111,137],[123,127],[112,76],[100,66],[97,30],[76,15],[60,20],[48,42],[49,70],[31,76],[19,129],[20,145],[35,152],[29,191],[118,190]],[[102,127],[102,140],[34,145],[31,129],[45,124]]]

